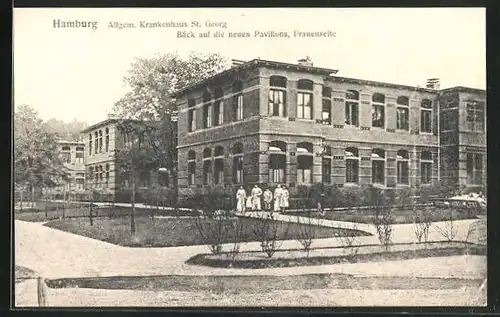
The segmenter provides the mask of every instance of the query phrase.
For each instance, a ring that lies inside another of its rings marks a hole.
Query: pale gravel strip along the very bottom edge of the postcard
[[[459,290],[301,290],[210,294],[97,289],[50,289],[49,306],[476,306],[477,288]]]

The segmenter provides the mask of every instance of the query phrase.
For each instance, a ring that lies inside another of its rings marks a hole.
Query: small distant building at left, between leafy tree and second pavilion
[[[60,199],[81,200],[85,196],[85,143],[59,140],[60,156],[69,176],[69,181],[56,188]]]

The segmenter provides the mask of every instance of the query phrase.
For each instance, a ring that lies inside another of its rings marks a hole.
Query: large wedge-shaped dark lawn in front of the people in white
[[[241,236],[242,241],[257,240],[252,228],[258,223],[258,220],[254,218],[239,219],[244,228]],[[300,232],[299,224],[282,221],[278,221],[278,223],[280,224],[278,226],[280,239],[295,239]],[[86,218],[55,220],[46,223],[45,226],[122,246],[170,247],[205,244],[196,227],[194,217],[151,219],[146,216],[139,216],[136,218],[135,224],[135,238],[132,238],[130,234],[130,219],[128,217],[97,218],[94,219],[93,226],[90,226],[89,219]],[[286,236],[285,232],[287,232]],[[316,229],[316,238],[330,238],[346,234],[369,235],[359,230],[328,227],[318,227]],[[226,242],[232,242],[233,240],[234,234],[230,233]]]

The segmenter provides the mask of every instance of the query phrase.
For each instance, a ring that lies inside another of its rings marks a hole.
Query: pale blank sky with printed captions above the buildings
[[[338,69],[338,76],[441,88],[486,88],[484,8],[22,8],[14,9],[14,105],[47,120],[89,124],[107,118],[127,91],[136,57],[220,53]],[[53,21],[97,21],[92,28],[54,28]],[[141,28],[140,22],[197,21],[199,28]],[[206,23],[225,22],[226,28]],[[110,22],[137,27],[109,28]],[[324,38],[228,38],[229,32],[331,31]],[[177,38],[210,31],[211,38]],[[225,38],[213,37],[216,31]]]

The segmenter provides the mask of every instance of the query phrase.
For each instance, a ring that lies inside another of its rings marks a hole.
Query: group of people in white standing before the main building
[[[240,186],[236,192],[236,211],[244,213],[247,210],[262,210],[261,199],[264,202],[264,210],[284,212],[289,206],[290,192],[285,185],[278,185],[274,193],[269,188],[262,192],[262,189],[255,185],[250,195],[247,195],[243,186]]]

